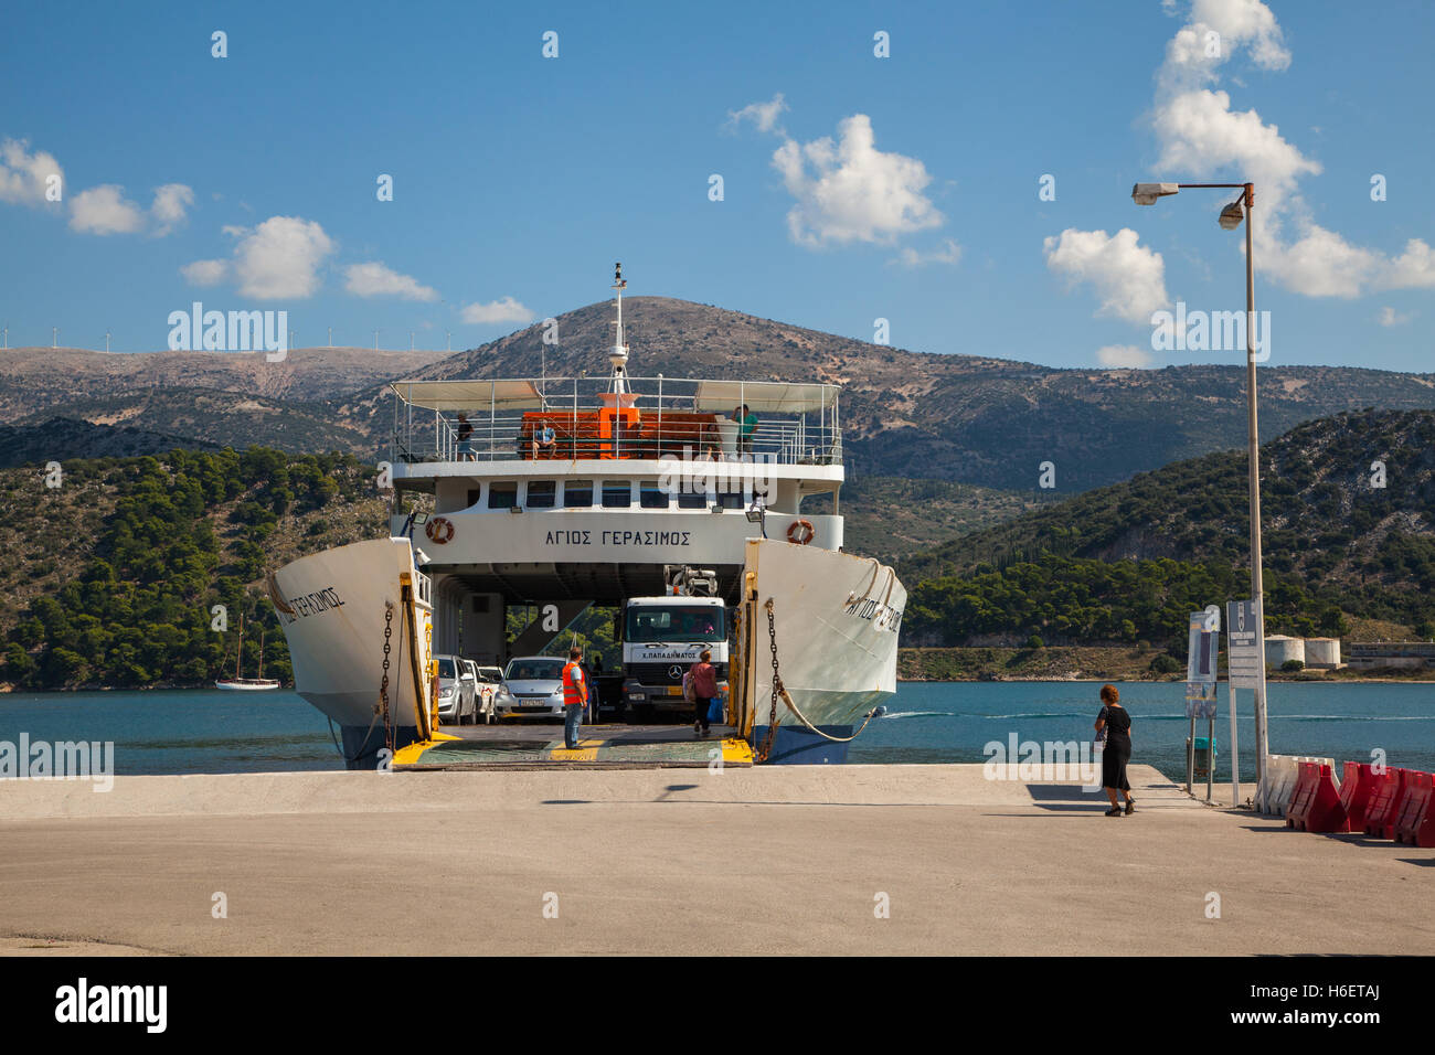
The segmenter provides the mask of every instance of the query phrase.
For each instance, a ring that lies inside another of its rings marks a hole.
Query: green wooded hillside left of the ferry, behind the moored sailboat
[[[387,504],[349,455],[265,448],[72,459],[50,488],[0,471],[0,688],[207,685],[234,663],[290,676],[270,567],[370,538]],[[212,627],[215,604],[228,632]]]

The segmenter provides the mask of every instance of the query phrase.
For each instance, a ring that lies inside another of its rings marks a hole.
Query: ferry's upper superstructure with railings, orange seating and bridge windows
[[[662,591],[666,564],[713,567],[726,591],[749,537],[842,545],[834,385],[624,375],[392,390],[393,487],[435,505],[396,511],[390,531],[472,591],[601,603]],[[814,495],[831,512],[806,512]]]

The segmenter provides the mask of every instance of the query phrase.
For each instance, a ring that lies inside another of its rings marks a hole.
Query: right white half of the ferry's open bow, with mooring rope
[[[832,764],[847,756],[847,738],[867,713],[897,692],[897,637],[907,589],[874,558],[812,545],[751,540],[746,553],[748,611],[753,620],[748,696],[752,745],[766,745],[768,764]],[[766,603],[772,600],[779,676],[792,708],[772,709],[772,652]],[[805,719],[805,721],[804,721]]]

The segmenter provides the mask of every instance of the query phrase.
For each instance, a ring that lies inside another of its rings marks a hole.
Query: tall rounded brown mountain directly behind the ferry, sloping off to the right
[[[606,375],[613,304],[557,317],[558,344],[535,323],[415,376]],[[870,344],[740,311],[667,297],[627,297],[634,376],[822,380],[842,385],[850,465],[877,477],[936,478],[1036,491],[1039,465],[1075,492],[1246,444],[1246,369],[1058,370],[996,356],[933,355]],[[1366,406],[1435,408],[1435,375],[1267,366],[1266,436]],[[380,389],[340,400],[339,416],[376,441],[392,413]]]

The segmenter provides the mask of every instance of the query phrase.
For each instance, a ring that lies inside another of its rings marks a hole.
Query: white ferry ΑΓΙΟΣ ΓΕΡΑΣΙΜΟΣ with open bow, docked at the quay
[[[386,535],[268,574],[296,690],[349,766],[446,735],[436,655],[502,666],[693,568],[729,616],[726,726],[753,761],[841,762],[895,692],[907,591],[844,551],[838,386],[631,376],[626,286],[618,264],[606,378],[392,382]],[[657,676],[680,696],[683,670]]]

